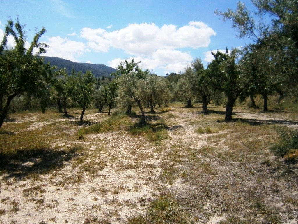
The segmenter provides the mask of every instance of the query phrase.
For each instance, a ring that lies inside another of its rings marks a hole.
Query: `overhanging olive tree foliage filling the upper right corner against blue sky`
[[[258,49],[254,64],[262,67],[261,72],[266,76],[266,82],[261,82],[261,90],[270,90],[267,84],[282,80],[282,91],[297,94],[297,56],[298,56],[298,7],[291,0],[252,0],[257,9],[251,12],[244,3],[238,2],[235,11],[228,8],[227,12],[216,11],[223,20],[231,20],[232,27],[238,31],[238,37],[248,37]],[[258,58],[267,58],[266,61]],[[265,63],[264,63],[265,62]],[[263,67],[265,66],[265,67]],[[263,86],[266,84],[265,86]]]

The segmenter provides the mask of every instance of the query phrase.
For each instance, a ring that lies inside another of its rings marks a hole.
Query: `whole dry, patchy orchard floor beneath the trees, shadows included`
[[[11,114],[0,223],[297,223],[297,164],[270,151],[297,112],[242,105],[224,122],[222,106],[168,106],[146,108],[147,129],[138,113]]]

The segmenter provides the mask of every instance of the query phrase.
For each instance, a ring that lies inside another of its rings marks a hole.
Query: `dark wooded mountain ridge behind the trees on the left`
[[[86,73],[87,70],[91,70],[94,77],[101,77],[106,76],[109,77],[111,73],[116,72],[117,70],[112,67],[108,67],[103,64],[89,64],[89,63],[79,63],[79,62],[72,62],[63,58],[57,57],[47,57],[43,56],[44,63],[50,62],[52,66],[57,66],[58,69],[66,68],[66,72],[68,75],[71,75],[72,68],[75,69],[76,72],[83,72]]]

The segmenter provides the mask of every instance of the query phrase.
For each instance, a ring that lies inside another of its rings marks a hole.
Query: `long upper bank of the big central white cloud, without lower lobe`
[[[83,28],[81,37],[96,51],[107,52],[110,47],[125,50],[131,55],[148,55],[157,49],[207,47],[210,37],[216,33],[203,22],[192,21],[183,27],[175,25],[156,26],[154,23],[130,24],[127,27],[107,32],[103,29]]]

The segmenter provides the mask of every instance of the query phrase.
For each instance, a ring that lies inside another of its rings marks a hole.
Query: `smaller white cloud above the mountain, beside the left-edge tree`
[[[68,59],[77,62],[76,57],[82,56],[84,52],[90,51],[86,48],[83,42],[71,41],[60,36],[49,37],[48,42],[50,47],[46,49],[43,56],[52,56]]]

